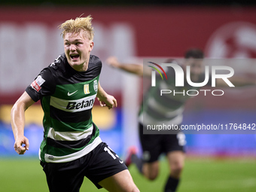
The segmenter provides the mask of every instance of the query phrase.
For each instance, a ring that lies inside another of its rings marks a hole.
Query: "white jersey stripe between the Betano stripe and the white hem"
[[[75,132],[58,132],[50,127],[47,137],[57,141],[78,141],[87,138],[87,136],[90,136],[92,133],[93,125],[87,130]]]

